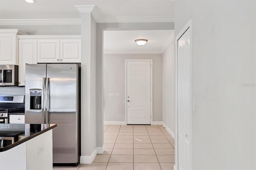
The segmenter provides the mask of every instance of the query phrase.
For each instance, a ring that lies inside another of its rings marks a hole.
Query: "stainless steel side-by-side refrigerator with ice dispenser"
[[[80,162],[78,64],[26,64],[25,123],[57,124],[53,163]]]

